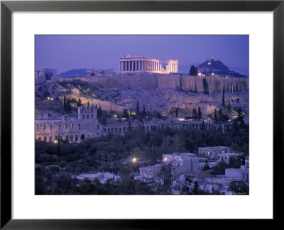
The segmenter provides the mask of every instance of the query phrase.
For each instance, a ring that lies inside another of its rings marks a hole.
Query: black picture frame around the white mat
[[[281,219],[282,215],[278,210],[283,204],[283,195],[278,186],[283,180],[281,169],[283,169],[284,153],[283,0],[1,1],[1,229],[166,229],[173,221],[180,227],[188,224],[188,220],[177,222],[177,220],[170,219],[151,221],[138,219],[11,219],[11,13],[13,11],[273,11],[273,221]]]

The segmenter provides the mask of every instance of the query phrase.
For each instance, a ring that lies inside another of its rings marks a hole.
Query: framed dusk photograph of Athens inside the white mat
[[[249,195],[249,35],[35,35],[35,195]]]

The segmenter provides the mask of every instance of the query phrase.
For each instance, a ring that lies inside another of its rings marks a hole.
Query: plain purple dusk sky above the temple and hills
[[[214,57],[249,70],[249,35],[35,35],[35,70],[117,71],[118,58],[127,54],[178,59],[179,65]]]

